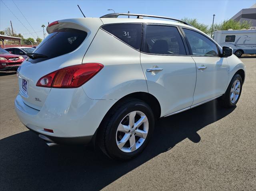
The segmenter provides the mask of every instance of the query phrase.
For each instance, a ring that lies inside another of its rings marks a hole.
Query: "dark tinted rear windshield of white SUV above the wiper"
[[[28,59],[28,61],[37,63],[70,53],[78,48],[86,36],[86,32],[71,28],[64,28],[54,31],[53,33],[50,33],[34,51],[34,53],[42,54],[47,57]]]

